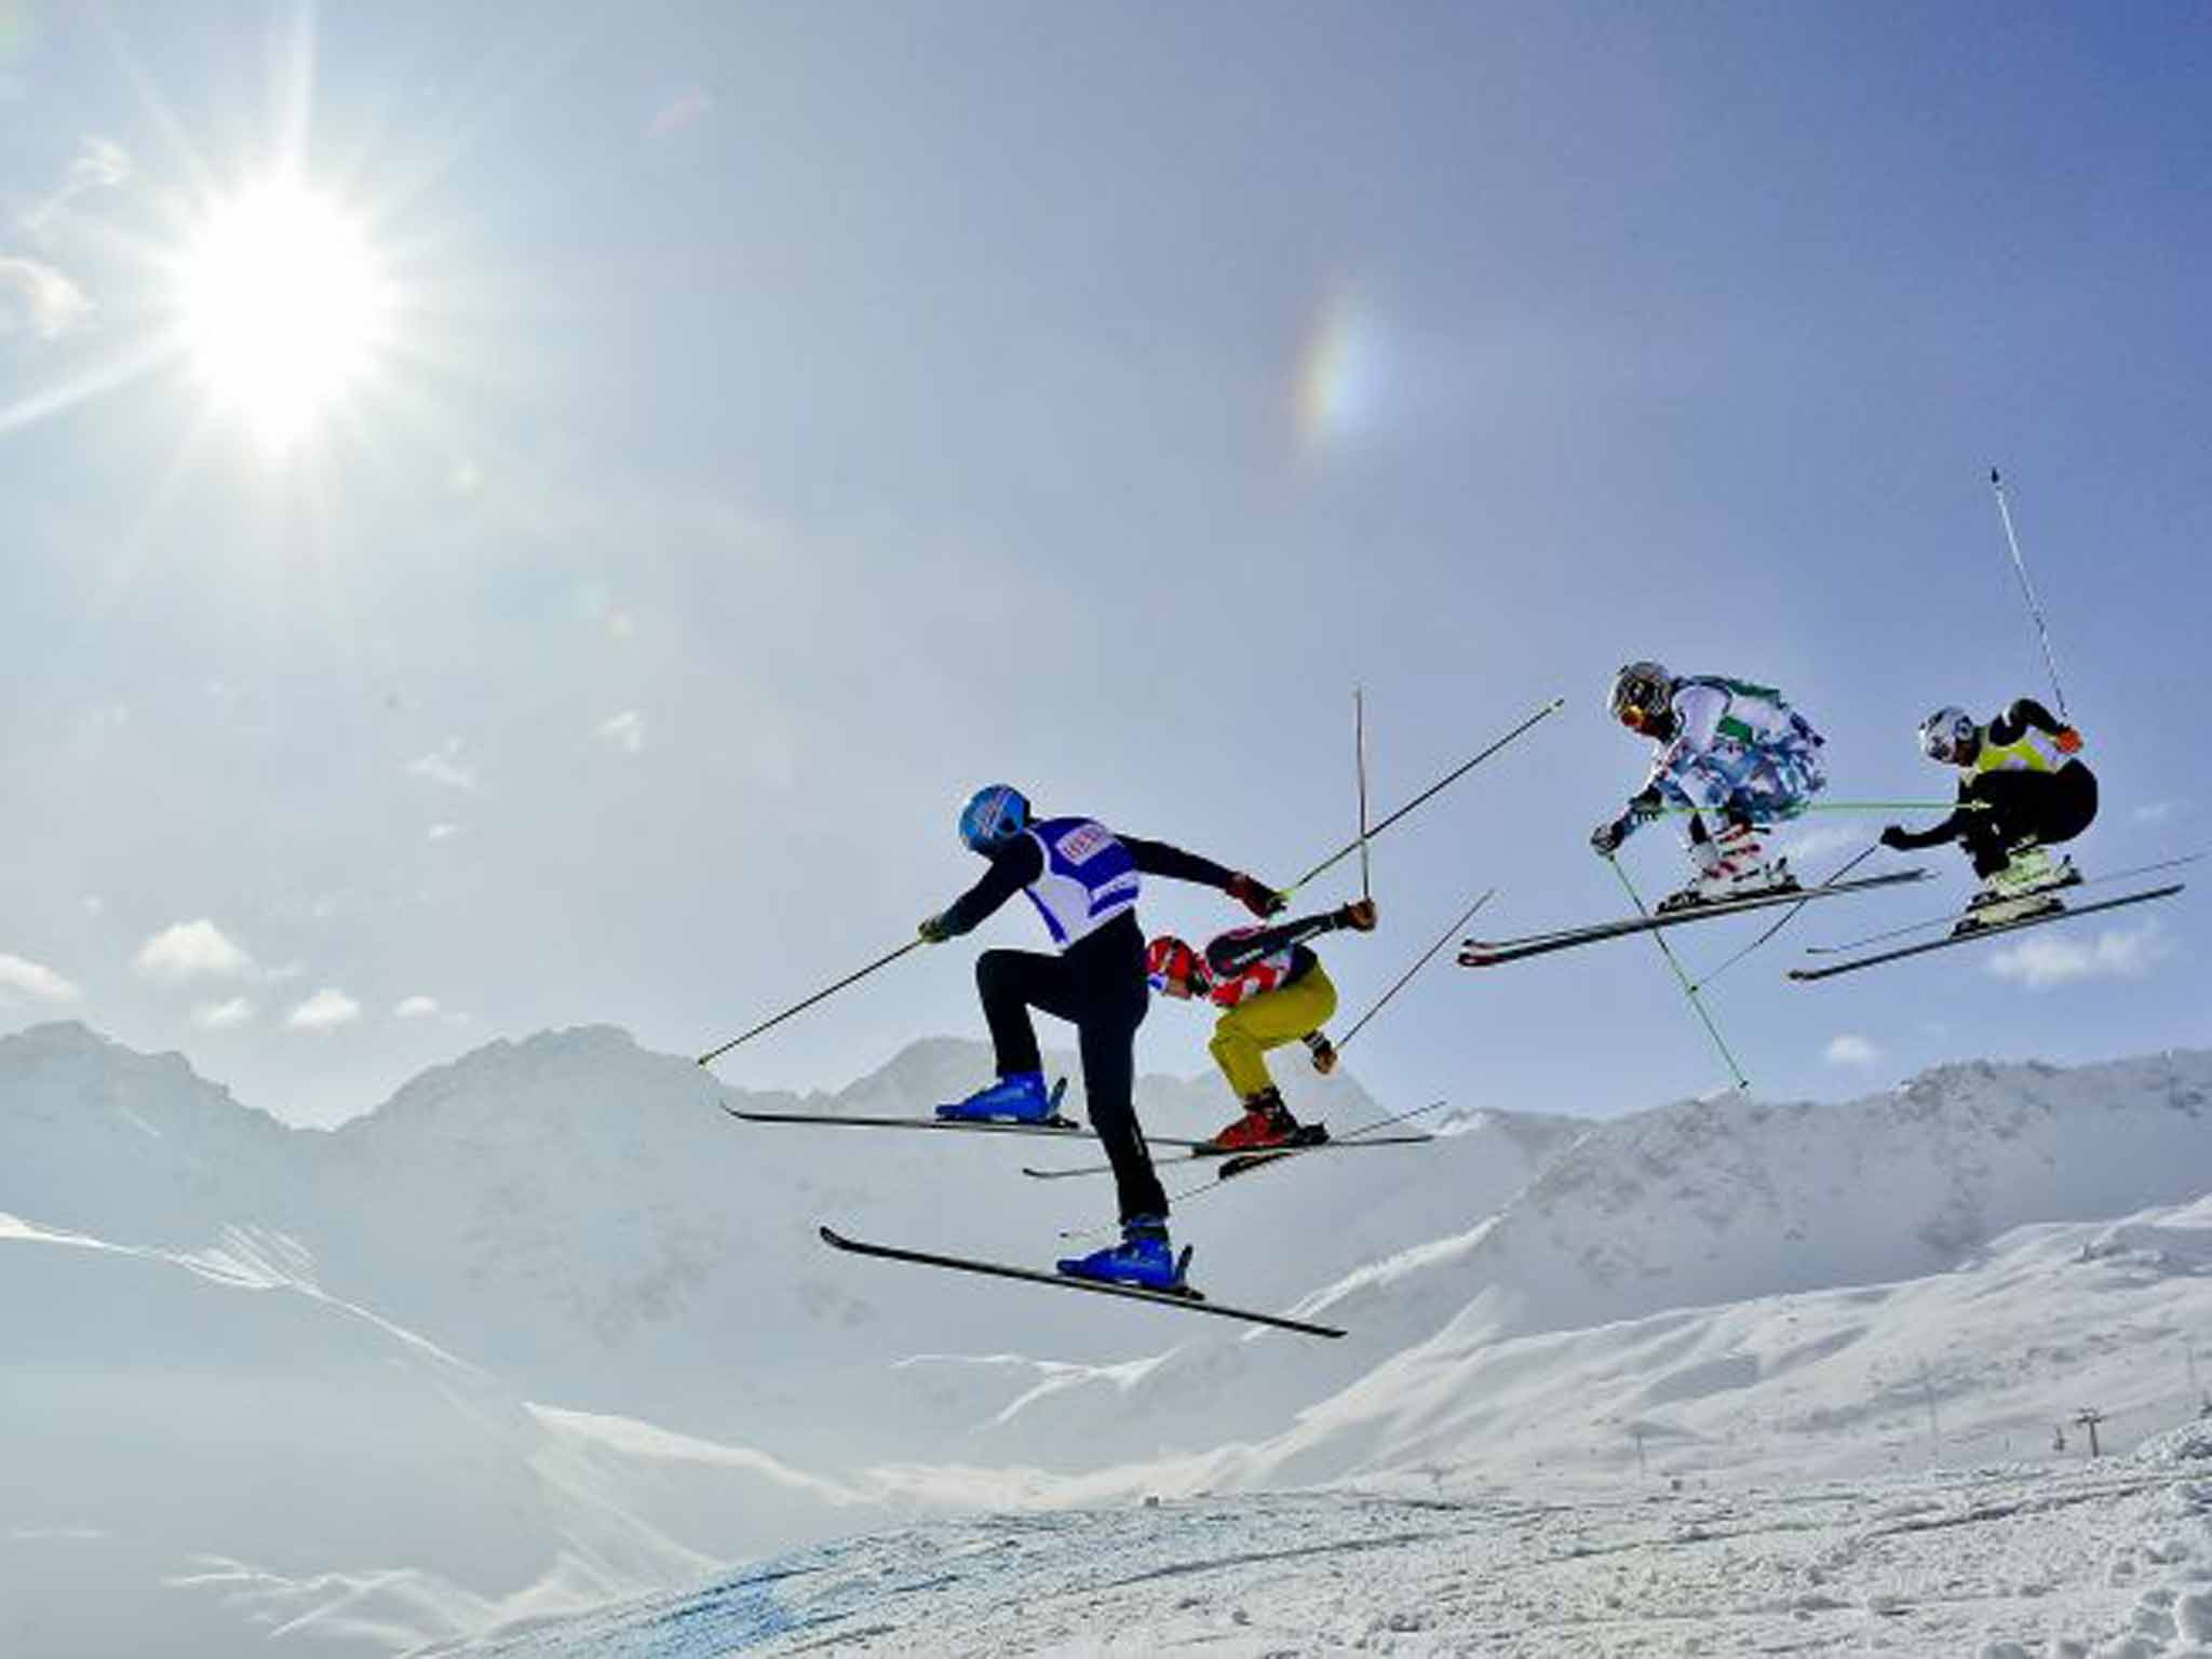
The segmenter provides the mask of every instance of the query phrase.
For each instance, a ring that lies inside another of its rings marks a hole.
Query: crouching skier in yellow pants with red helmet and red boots
[[[1321,1124],[1298,1124],[1267,1075],[1267,1051],[1303,1042],[1314,1071],[1336,1071],[1336,1048],[1321,1031],[1336,1013],[1336,987],[1307,940],[1340,927],[1374,931],[1376,907],[1356,898],[1332,911],[1274,927],[1239,927],[1194,951],[1172,933],[1146,949],[1152,989],[1177,1000],[1206,998],[1221,1009],[1212,1055],[1243,1104],[1243,1117],[1208,1141],[1212,1152],[1256,1152],[1270,1146],[1314,1146]]]

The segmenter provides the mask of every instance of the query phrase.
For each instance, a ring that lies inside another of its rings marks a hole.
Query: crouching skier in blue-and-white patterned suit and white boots
[[[1632,661],[1613,677],[1606,706],[1659,754],[1628,810],[1590,832],[1593,849],[1610,858],[1644,823],[1677,807],[1690,814],[1694,876],[1659,909],[1796,887],[1787,860],[1770,854],[1759,832],[1794,818],[1827,787],[1825,739],[1778,690],[1719,675],[1677,679],[1661,664]],[[1705,823],[1708,814],[1717,823]]]

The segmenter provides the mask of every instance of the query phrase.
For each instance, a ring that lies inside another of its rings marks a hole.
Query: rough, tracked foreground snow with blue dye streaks
[[[2137,1458],[1803,1489],[940,1522],[436,1652],[2212,1655],[2212,1425]]]

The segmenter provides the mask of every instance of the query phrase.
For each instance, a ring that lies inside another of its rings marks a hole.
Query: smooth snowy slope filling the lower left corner
[[[164,1655],[387,1652],[690,1582],[858,1504],[759,1453],[531,1409],[265,1234],[186,1254],[0,1217],[0,1307],[9,1655],[155,1630]]]

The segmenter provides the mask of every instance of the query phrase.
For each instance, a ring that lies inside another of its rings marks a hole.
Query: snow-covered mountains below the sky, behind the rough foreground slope
[[[294,1130],[82,1026],[0,1040],[0,1458],[29,1471],[0,1648],[106,1577],[131,1593],[44,1650],[175,1626],[212,1655],[250,1621],[374,1652],[909,1513],[1613,1491],[1639,1460],[1856,1478],[2037,1455],[2079,1405],[2115,1438],[2192,1405],[2212,1055],[1604,1124],[1458,1110],[1429,1146],[1179,1208],[1201,1283],[1343,1343],[834,1256],[818,1221],[1040,1261],[1110,1190],[1018,1175],[1084,1144],[719,1110],[927,1113],[982,1064],[940,1040],[836,1095],[741,1097],[584,1029]],[[1383,1115],[1303,1082],[1338,1128]],[[1225,1117],[1214,1079],[1139,1099],[1159,1133]]]

